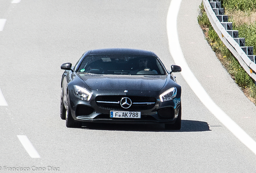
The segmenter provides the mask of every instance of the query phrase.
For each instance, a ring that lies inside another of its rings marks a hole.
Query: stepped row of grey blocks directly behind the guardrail
[[[232,22],[228,22],[228,16],[224,15],[224,8],[221,8],[221,2],[219,2],[219,0],[209,0],[209,2],[225,30],[239,44],[239,46],[242,48],[242,50],[244,50],[244,52],[250,58],[250,60],[256,63],[256,56],[253,55],[253,47],[245,46],[245,38],[239,38],[238,30],[233,30]]]

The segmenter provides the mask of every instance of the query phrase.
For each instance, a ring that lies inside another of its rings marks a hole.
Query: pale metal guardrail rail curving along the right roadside
[[[218,0],[211,0],[217,1]],[[250,60],[248,55],[242,50],[239,44],[233,39],[233,37],[227,32],[224,26],[221,24],[219,19],[217,18],[213,8],[209,0],[203,0],[204,10],[213,26],[215,32],[218,34],[221,41],[225,44],[225,46],[230,50],[230,52],[235,56],[238,60],[239,64],[244,68],[244,70],[256,81],[256,64]],[[224,15],[224,14],[222,14]]]

